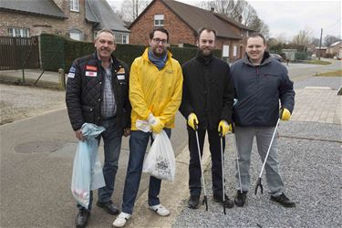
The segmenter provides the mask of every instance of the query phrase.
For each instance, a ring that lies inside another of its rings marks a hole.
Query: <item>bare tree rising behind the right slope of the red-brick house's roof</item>
[[[200,7],[204,9],[214,8],[215,12],[229,16],[235,21],[239,21],[239,17],[243,16],[242,23],[251,29],[269,36],[269,28],[257,15],[254,7],[249,5],[245,0],[212,0],[209,2],[201,2]]]

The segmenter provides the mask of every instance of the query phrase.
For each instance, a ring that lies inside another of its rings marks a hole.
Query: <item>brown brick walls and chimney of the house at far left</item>
[[[8,27],[28,28],[29,35],[41,33],[68,36],[72,28],[83,32],[86,41],[93,40],[92,25],[85,20],[85,0],[79,0],[79,12],[69,10],[69,2],[54,0],[61,8],[67,19],[57,19],[49,16],[35,16],[10,12],[1,12],[0,36],[8,36]]]

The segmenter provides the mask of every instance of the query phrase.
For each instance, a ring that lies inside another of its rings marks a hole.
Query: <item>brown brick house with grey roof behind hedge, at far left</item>
[[[128,44],[130,30],[106,0],[0,0],[0,36],[38,36],[42,33],[93,41],[109,28],[118,43]]]

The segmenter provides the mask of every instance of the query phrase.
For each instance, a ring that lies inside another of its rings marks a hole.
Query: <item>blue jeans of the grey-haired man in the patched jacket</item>
[[[118,171],[119,154],[121,150],[122,130],[117,128],[116,119],[102,120],[101,126],[106,130],[101,137],[104,144],[105,162],[103,164],[103,176],[106,186],[98,189],[98,202],[110,202],[114,192],[115,176]],[[98,138],[99,145],[100,138]],[[88,211],[91,211],[93,194],[90,192]],[[78,204],[78,209],[82,206]]]

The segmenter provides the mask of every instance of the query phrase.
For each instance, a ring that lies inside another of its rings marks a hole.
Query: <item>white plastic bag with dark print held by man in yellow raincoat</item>
[[[174,181],[176,161],[171,141],[164,130],[157,134],[142,171],[161,180]]]

